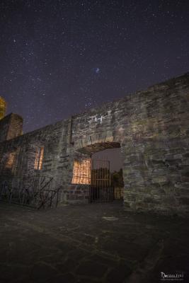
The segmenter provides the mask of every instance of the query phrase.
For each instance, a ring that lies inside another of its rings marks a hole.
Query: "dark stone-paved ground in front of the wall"
[[[1,202],[0,282],[153,283],[161,272],[189,282],[188,232],[187,219],[120,203],[36,211]]]

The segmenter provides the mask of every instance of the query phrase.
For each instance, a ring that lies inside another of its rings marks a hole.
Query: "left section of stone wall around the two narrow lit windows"
[[[16,177],[24,177],[37,175],[39,172],[35,170],[35,156],[36,152],[41,146],[44,146],[44,158],[42,164],[43,175],[53,176],[57,181],[59,180],[59,173],[62,178],[66,180],[67,174],[62,173],[62,161],[67,160],[67,127],[69,121],[64,120],[55,125],[50,125],[42,129],[38,129],[28,134],[16,137],[9,141],[1,143],[1,175],[8,175],[9,169],[6,168],[8,154],[20,150],[20,154],[16,156],[18,165],[15,168],[14,175]]]

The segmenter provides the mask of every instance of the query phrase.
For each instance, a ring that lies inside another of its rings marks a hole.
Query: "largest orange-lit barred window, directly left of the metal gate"
[[[91,184],[91,159],[74,161],[72,184]]]

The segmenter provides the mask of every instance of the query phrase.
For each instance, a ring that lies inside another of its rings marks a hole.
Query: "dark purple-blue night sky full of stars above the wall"
[[[0,96],[24,132],[188,71],[187,0],[1,0],[0,9]]]

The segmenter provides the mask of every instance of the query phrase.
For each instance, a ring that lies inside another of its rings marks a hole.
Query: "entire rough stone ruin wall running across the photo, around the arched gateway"
[[[189,73],[27,134],[10,114],[0,121],[0,181],[52,177],[60,204],[86,203],[89,185],[73,183],[74,161],[120,147],[125,209],[187,214],[188,103]]]

